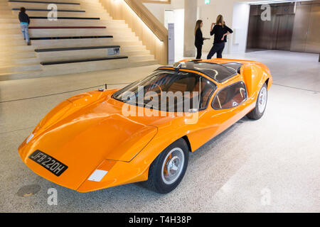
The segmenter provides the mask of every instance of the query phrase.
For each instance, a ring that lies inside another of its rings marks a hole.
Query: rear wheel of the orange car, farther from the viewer
[[[263,114],[265,114],[265,109],[267,107],[267,99],[268,99],[267,84],[263,84],[257,96],[255,109],[252,109],[252,111],[249,114],[247,114],[247,118],[250,118],[252,120],[260,119],[263,116]]]

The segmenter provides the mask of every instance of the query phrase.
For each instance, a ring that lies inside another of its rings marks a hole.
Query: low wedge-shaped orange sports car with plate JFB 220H
[[[262,117],[271,84],[260,62],[183,60],[123,89],[63,101],[18,153],[33,172],[78,192],[143,182],[168,193],[189,152],[244,116]]]

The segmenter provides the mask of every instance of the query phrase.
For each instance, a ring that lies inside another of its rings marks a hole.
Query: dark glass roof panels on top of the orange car
[[[172,70],[184,69],[201,72],[215,80],[215,82],[221,83],[227,79],[230,79],[231,77],[235,77],[238,74],[241,66],[242,64],[239,62],[218,64],[214,62],[203,62],[201,60],[191,60],[186,62],[176,62],[174,66],[169,66],[169,68],[172,68]],[[168,66],[159,67],[158,70],[161,70],[161,68],[167,69]]]

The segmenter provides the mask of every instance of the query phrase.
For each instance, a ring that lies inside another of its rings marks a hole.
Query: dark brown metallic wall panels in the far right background
[[[320,0],[271,4],[271,21],[250,6],[247,48],[320,52]]]

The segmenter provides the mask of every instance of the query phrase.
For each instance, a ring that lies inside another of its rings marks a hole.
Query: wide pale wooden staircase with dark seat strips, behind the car
[[[48,4],[58,6],[49,21]],[[18,12],[31,18],[26,45]],[[0,0],[0,81],[158,64],[124,20],[99,0]]]

